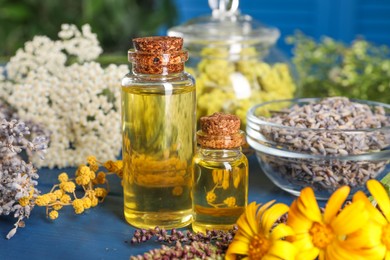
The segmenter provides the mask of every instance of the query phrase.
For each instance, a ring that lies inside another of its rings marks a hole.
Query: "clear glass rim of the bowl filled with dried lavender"
[[[377,128],[357,128],[357,129],[325,129],[325,128],[299,128],[299,127],[293,127],[293,126],[285,126],[273,122],[268,122],[265,120],[260,119],[258,116],[254,115],[254,112],[259,108],[259,107],[264,107],[270,104],[276,104],[276,103],[282,103],[282,102],[291,102],[291,103],[300,103],[300,102],[305,102],[305,103],[310,103],[310,102],[315,102],[319,100],[323,100],[326,97],[312,97],[312,98],[292,98],[292,99],[279,99],[279,100],[272,100],[272,101],[267,101],[263,102],[257,105],[252,106],[248,112],[247,112],[247,128],[251,127],[253,128],[253,124],[255,125],[264,125],[264,126],[273,126],[273,127],[278,127],[280,129],[284,130],[290,130],[290,131],[312,131],[312,132],[371,132],[371,131],[378,131],[378,130],[389,130],[390,131],[390,126],[384,126],[384,127],[377,127]],[[371,101],[371,100],[362,100],[362,99],[354,99],[354,98],[348,98],[351,102],[357,102],[360,104],[366,104],[369,106],[380,106],[384,107],[386,109],[390,110],[390,104],[386,103],[381,103],[377,101]],[[387,115],[386,115],[387,116]],[[390,117],[390,116],[388,116]]]

